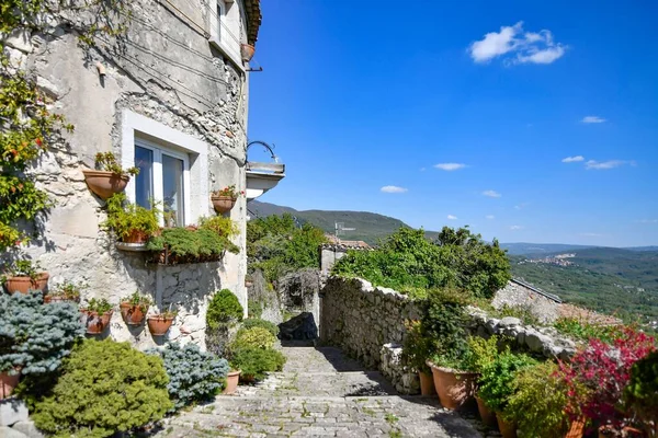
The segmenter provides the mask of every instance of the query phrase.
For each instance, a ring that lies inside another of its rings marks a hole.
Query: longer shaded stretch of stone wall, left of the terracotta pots
[[[406,296],[374,288],[360,278],[330,277],[320,298],[324,343],[340,347],[367,368],[382,370],[399,392],[418,391],[417,377],[399,360],[405,321],[420,318]]]

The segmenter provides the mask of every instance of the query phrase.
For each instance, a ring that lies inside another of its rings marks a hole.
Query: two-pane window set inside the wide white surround
[[[163,211],[167,226],[184,226],[185,204],[190,203],[185,173],[190,171],[189,157],[179,151],[162,148],[150,141],[135,139],[135,201],[150,208],[151,200]]]

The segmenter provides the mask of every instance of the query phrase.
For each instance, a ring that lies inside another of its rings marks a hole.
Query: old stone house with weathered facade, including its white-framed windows
[[[49,273],[50,288],[65,280],[88,284],[83,301],[106,298],[117,306],[135,290],[150,295],[155,308],[179,311],[163,341],[203,346],[214,291],[230,289],[247,312],[245,197],[229,214],[240,230],[238,254],[216,263],[146,263],[144,254],[117,250],[100,227],[105,201],[90,192],[82,170],[94,168],[98,152],[114,152],[124,169],[140,168],[126,188],[128,199],[173,199],[178,223],[185,226],[215,215],[213,191],[231,184],[245,189],[249,64],[242,50],[256,45],[260,0],[109,4],[117,7],[111,15],[48,11],[39,26],[0,35],[5,56],[75,126],[31,170],[54,206],[41,218],[41,238],[22,251]],[[92,45],[81,44],[86,30],[105,25],[121,32],[95,33]],[[128,328],[117,309],[106,335],[140,347],[158,341],[144,326]]]

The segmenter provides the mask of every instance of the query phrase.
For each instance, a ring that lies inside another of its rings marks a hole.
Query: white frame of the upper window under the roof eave
[[[228,0],[209,0],[218,10],[217,15],[211,13],[211,37],[209,43],[215,46],[224,56],[229,58],[240,70],[245,71],[241,55],[241,32],[240,32],[240,3]],[[223,28],[224,27],[224,28]],[[232,34],[232,36],[229,34]],[[234,39],[238,38],[238,42]]]

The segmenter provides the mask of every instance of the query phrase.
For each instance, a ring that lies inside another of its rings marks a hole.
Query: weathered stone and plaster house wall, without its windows
[[[154,298],[157,308],[171,306],[180,313],[168,337],[203,345],[213,291],[230,289],[247,312],[245,198],[230,211],[240,229],[235,239],[239,254],[227,254],[222,263],[150,265],[143,254],[114,247],[114,239],[99,226],[106,218],[105,203],[88,189],[81,172],[93,168],[97,152],[113,151],[122,160],[122,119],[131,111],[206,145],[207,187],[193,191],[192,196],[230,184],[245,188],[247,73],[195,26],[209,25],[213,16],[205,3],[172,3],[188,18],[166,3],[131,2],[134,20],[127,35],[120,39],[101,36],[91,49],[81,48],[75,26],[64,25],[58,16],[49,18],[44,32],[5,41],[12,61],[54,100],[53,112],[76,127],[64,135],[64,141],[52,145],[32,171],[55,206],[39,220],[43,238],[23,250],[50,274],[52,286],[64,280],[87,283],[83,300],[107,298],[118,304],[122,297],[139,289]],[[241,0],[236,4],[242,8]],[[89,16],[82,13],[73,22],[84,20]],[[243,25],[241,33],[245,39]],[[97,62],[105,67],[104,77]],[[212,206],[198,214],[215,215]],[[118,311],[109,335],[144,347],[154,344],[148,328],[128,330]]]

